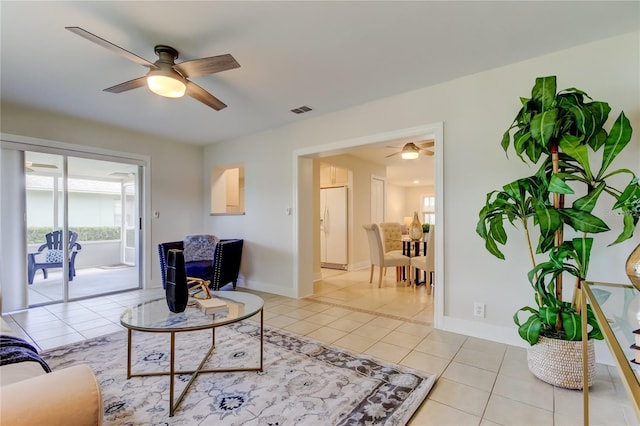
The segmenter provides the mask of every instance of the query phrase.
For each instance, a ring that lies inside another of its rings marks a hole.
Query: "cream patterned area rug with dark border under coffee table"
[[[176,335],[176,370],[195,369],[211,331]],[[257,366],[259,326],[216,329],[205,368]],[[198,375],[173,417],[169,377],[126,378],[127,334],[44,352],[55,371],[91,366],[102,392],[105,425],[405,425],[435,376],[265,327],[262,372]],[[133,333],[132,372],[169,371],[169,336]],[[189,374],[175,381],[176,398]]]

